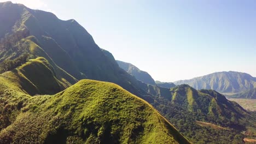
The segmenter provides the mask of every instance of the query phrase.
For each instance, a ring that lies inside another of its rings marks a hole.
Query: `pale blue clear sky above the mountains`
[[[0,2],[3,2],[0,0]],[[75,19],[96,44],[172,82],[217,71],[256,77],[256,1],[14,0]]]

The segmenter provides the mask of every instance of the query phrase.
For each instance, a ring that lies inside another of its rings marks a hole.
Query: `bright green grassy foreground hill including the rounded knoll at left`
[[[55,95],[28,95],[23,82],[38,74],[53,83],[33,81],[34,87],[60,88],[49,66],[37,58],[0,75],[0,143],[190,143],[146,101],[114,83],[81,80]],[[43,72],[31,73],[35,68]]]

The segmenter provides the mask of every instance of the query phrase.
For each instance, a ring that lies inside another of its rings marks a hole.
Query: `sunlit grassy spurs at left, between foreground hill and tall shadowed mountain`
[[[8,53],[16,53],[15,57],[22,55],[22,53],[30,53],[30,55],[37,58],[31,59],[21,67],[3,74],[7,78],[5,81],[8,81],[5,82],[5,86],[12,80],[11,82],[16,83],[16,86],[19,87],[18,89],[30,95],[55,94],[78,81],[52,61],[48,54],[38,45],[39,42],[35,37],[24,38],[18,41],[17,44],[22,45],[19,52],[6,50],[2,52],[3,57],[11,58],[8,57]]]

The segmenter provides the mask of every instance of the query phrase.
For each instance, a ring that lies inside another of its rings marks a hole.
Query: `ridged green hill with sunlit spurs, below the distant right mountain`
[[[200,114],[205,116],[219,117],[221,119],[234,118],[235,122],[239,118],[247,115],[246,110],[241,106],[228,101],[224,95],[213,90],[202,89],[201,91],[197,91],[189,85],[180,85],[171,88],[171,93],[172,103],[182,105],[189,111],[200,111]]]

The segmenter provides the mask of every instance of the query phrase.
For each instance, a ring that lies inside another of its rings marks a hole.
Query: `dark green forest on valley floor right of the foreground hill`
[[[199,113],[184,110],[173,103],[167,106],[156,106],[161,113],[192,143],[243,143],[241,131],[201,127],[196,121],[205,121],[206,116],[198,117]],[[225,123],[221,123],[225,124]]]

